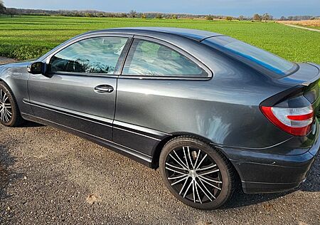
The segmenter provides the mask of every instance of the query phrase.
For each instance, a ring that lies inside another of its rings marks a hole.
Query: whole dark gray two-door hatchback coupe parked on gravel
[[[182,202],[216,209],[240,181],[246,193],[304,181],[320,145],[319,68],[207,31],[92,31],[0,66],[0,121],[52,125],[159,167]]]

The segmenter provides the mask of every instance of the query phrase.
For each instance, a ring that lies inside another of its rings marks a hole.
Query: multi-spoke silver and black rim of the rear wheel
[[[166,177],[176,192],[193,203],[213,202],[222,189],[222,176],[214,160],[201,150],[183,146],[166,158]]]

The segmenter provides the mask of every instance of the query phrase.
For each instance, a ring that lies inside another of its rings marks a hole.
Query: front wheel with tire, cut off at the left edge
[[[0,123],[7,127],[17,127],[23,123],[16,99],[6,83],[0,81]]]

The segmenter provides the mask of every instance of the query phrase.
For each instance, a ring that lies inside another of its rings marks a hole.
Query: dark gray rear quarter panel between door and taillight
[[[215,145],[241,148],[267,148],[292,137],[272,125],[259,108],[263,100],[292,85],[267,78],[223,54],[203,54],[212,59],[206,64],[214,73],[210,80],[120,76],[115,122],[171,135],[197,135]],[[125,144],[130,142],[135,140]],[[152,148],[141,148],[153,155]]]

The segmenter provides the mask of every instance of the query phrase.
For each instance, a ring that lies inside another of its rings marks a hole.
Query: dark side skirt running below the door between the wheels
[[[65,132],[69,132],[73,135],[77,135],[78,137],[82,137],[85,138],[86,140],[90,140],[91,142],[95,142],[97,145],[101,145],[102,147],[107,147],[108,149],[117,152],[121,155],[124,155],[126,157],[129,157],[130,159],[134,159],[135,161],[144,164],[146,167],[150,167],[151,168],[151,162],[152,162],[152,157],[149,155],[145,155],[142,152],[138,152],[137,150],[133,150],[129,147],[125,147],[123,145],[119,145],[115,142],[112,142],[110,140],[105,140],[102,139],[101,137],[97,137],[95,135],[90,135],[87,132],[82,132],[80,130],[75,130],[71,127],[67,127],[64,125],[60,125],[58,123],[55,122],[51,122],[48,120],[44,120],[40,117],[36,117],[33,115],[28,115],[28,114],[24,114],[21,113],[21,116],[23,117],[23,119],[25,120],[30,120],[33,122],[38,122],[41,123],[43,125],[48,125],[50,127],[55,127],[59,130],[63,130]]]

